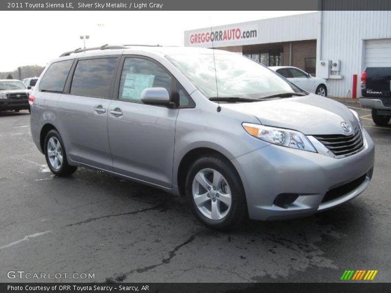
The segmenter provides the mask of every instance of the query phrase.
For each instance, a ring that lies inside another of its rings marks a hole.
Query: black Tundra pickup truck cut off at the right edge
[[[361,74],[360,105],[372,109],[376,125],[387,125],[391,119],[391,67],[367,67]]]

